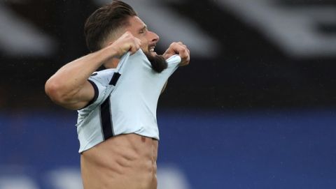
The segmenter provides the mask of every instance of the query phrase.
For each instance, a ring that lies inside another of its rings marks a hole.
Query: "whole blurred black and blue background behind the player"
[[[81,188],[76,112],[44,83],[107,0],[0,1],[0,189]],[[336,188],[336,1],[127,0],[190,48],[158,105],[159,189]]]

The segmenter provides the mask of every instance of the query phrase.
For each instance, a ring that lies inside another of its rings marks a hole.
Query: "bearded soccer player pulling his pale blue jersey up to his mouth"
[[[85,37],[92,53],[67,63],[45,83],[55,103],[78,110],[83,186],[157,188],[158,96],[174,70],[188,65],[188,47],[172,43],[156,54],[159,36],[123,1],[92,13]],[[106,70],[95,72],[100,66]]]

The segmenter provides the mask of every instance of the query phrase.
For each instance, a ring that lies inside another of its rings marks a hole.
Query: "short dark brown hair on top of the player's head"
[[[91,52],[102,49],[104,41],[111,33],[118,31],[128,24],[128,18],[137,16],[133,8],[123,1],[114,0],[98,8],[87,18],[84,34],[87,47]]]

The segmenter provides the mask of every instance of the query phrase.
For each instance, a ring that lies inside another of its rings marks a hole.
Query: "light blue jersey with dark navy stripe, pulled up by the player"
[[[79,152],[110,137],[136,133],[159,139],[156,108],[160,92],[181,58],[167,59],[168,67],[156,73],[142,50],[125,54],[116,69],[94,73],[89,81],[94,99],[78,110]]]

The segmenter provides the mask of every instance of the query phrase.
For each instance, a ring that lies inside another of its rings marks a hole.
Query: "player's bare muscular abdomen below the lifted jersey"
[[[80,168],[84,189],[156,189],[158,140],[118,135],[84,151]]]

